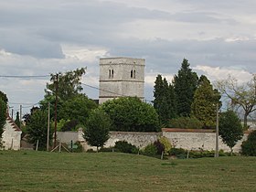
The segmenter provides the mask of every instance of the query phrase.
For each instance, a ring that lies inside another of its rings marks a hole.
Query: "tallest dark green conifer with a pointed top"
[[[181,69],[178,70],[173,81],[178,116],[190,115],[194,93],[197,90],[197,73],[193,72],[189,65],[187,59],[183,59]]]

